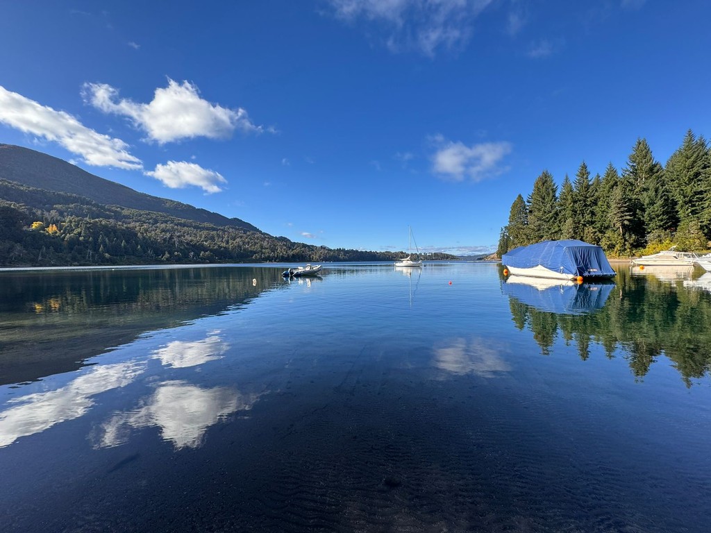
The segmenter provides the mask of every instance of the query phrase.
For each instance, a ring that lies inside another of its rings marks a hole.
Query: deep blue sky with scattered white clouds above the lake
[[[0,143],[329,248],[496,249],[518,194],[711,136],[711,2],[0,0]]]

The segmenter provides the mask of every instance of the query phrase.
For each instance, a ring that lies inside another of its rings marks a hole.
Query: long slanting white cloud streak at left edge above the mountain
[[[92,166],[142,168],[120,139],[97,133],[67,112],[43,106],[0,86],[0,122],[26,134],[53,141]]]

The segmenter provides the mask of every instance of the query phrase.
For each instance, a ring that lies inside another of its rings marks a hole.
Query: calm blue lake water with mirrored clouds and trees
[[[0,531],[709,531],[711,274],[286,266],[0,272]]]

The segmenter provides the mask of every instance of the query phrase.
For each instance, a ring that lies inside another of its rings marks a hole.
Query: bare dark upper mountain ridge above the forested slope
[[[228,218],[185,203],[139,193],[125,185],[95,176],[60,158],[22,146],[0,144],[0,178],[33,188],[80,195],[102,205],[161,212],[184,220],[261,232],[239,218]]]

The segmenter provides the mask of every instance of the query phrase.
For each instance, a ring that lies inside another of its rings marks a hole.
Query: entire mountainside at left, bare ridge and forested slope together
[[[0,144],[0,266],[394,261],[402,255],[292,242],[238,218],[139,193],[48,154]]]

